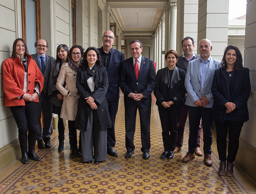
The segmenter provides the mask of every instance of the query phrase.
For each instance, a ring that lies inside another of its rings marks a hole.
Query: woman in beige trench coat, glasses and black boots
[[[60,117],[64,126],[68,120],[69,141],[72,146],[71,154],[81,157],[77,147],[76,128],[74,127],[79,95],[76,89],[76,74],[82,61],[84,49],[80,45],[72,46],[69,50],[69,60],[61,66],[56,88],[63,95]]]

